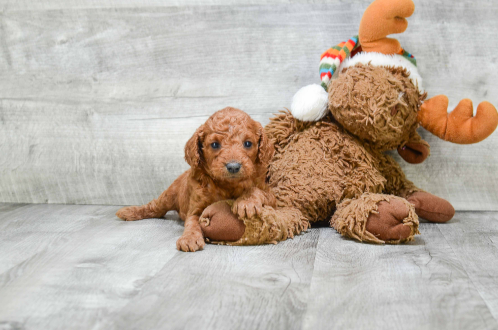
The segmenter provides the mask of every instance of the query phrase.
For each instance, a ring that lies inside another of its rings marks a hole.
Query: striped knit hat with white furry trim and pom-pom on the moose
[[[292,115],[302,121],[318,121],[328,112],[328,85],[338,72],[357,64],[382,67],[401,67],[410,74],[413,84],[422,92],[422,77],[417,70],[415,57],[404,49],[398,53],[362,52],[358,36],[327,49],[320,59],[321,84],[307,85],[294,95]]]

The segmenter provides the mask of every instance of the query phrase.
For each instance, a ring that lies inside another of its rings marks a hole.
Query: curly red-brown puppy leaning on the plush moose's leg
[[[264,205],[275,206],[275,197],[265,181],[273,153],[263,127],[247,113],[231,107],[217,111],[185,145],[185,160],[191,168],[158,199],[123,207],[116,216],[132,221],[161,218],[168,211],[177,211],[185,229],[176,248],[200,250],[204,237],[199,217],[212,203],[235,199],[232,211],[239,217],[259,214]]]

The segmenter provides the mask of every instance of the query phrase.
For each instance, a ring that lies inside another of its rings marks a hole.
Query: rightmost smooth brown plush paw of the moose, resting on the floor
[[[455,209],[447,200],[424,191],[417,191],[407,200],[415,206],[420,218],[431,222],[447,222],[455,215]]]

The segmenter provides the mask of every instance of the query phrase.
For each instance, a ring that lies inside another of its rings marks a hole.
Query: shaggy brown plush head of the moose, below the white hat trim
[[[419,141],[417,111],[427,94],[421,95],[409,76],[399,67],[345,69],[329,85],[329,109],[345,129],[378,151]]]

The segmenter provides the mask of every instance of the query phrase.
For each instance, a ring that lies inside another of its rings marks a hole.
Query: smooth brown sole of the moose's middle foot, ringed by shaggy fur
[[[371,213],[366,222],[366,230],[382,241],[400,241],[412,235],[412,228],[403,224],[409,217],[410,208],[398,198],[381,201],[377,213]]]

